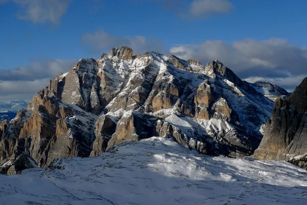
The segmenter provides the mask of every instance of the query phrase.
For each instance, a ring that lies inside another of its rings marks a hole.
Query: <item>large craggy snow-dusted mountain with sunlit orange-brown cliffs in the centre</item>
[[[208,155],[253,154],[273,101],[220,61],[206,66],[156,52],[113,48],[80,59],[0,124],[0,160],[20,154],[47,167],[58,157],[98,156],[153,136]]]

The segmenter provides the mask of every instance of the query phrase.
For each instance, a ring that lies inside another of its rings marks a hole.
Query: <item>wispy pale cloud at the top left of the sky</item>
[[[20,7],[17,17],[33,23],[59,24],[71,0],[1,0],[0,4],[14,2]]]

